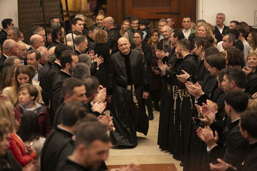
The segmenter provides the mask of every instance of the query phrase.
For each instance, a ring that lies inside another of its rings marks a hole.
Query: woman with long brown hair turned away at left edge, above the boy
[[[14,66],[6,66],[0,73],[0,94],[5,95],[14,84]]]

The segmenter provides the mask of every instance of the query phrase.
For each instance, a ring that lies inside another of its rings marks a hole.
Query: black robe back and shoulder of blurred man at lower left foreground
[[[45,140],[44,147],[41,153],[41,170],[42,171],[55,171],[56,167],[56,154],[59,148],[68,142],[72,134],[60,129],[53,128]]]

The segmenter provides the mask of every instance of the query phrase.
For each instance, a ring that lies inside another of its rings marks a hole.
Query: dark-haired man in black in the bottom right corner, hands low
[[[257,115],[255,111],[246,111],[241,115],[239,121],[240,132],[246,140],[249,141],[249,146],[245,148],[245,156],[241,166],[234,167],[230,163],[224,162],[222,159],[217,159],[219,164],[210,163],[212,170],[230,170],[244,171],[256,170],[257,168]]]

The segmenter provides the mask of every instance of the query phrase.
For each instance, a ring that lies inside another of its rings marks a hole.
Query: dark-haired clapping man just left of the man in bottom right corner
[[[241,165],[245,154],[246,140],[242,137],[239,128],[241,114],[248,105],[248,96],[240,90],[231,90],[225,97],[225,110],[227,116],[231,118],[231,126],[225,127],[217,122],[210,124],[210,128],[199,128],[198,136],[207,144],[207,152],[213,159],[223,158],[233,166]],[[215,137],[213,136],[215,131]],[[218,145],[218,132],[222,134],[221,141],[224,144]],[[212,135],[211,138],[207,138]]]

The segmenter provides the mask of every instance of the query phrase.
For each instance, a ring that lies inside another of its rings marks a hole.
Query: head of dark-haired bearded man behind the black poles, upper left
[[[64,28],[60,26],[53,28],[52,32],[52,42],[49,44],[48,48],[51,48],[53,46],[57,46],[60,43],[64,43],[65,33]]]

